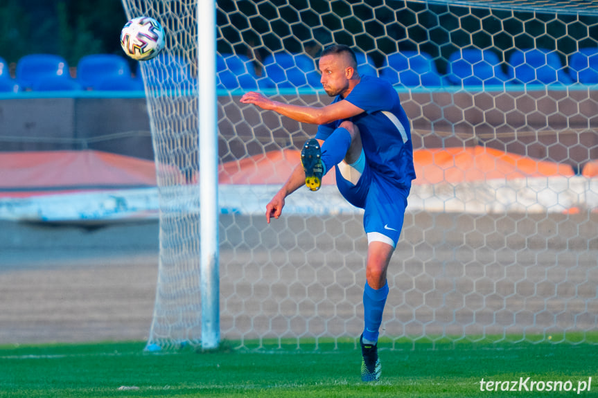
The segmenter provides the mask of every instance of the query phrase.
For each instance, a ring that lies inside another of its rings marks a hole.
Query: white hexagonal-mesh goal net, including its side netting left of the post
[[[161,203],[149,343],[196,345],[196,4],[123,4],[129,17],[154,17],[167,34],[164,53],[143,63]],[[393,346],[592,340],[594,2],[219,0],[216,21],[223,338],[317,347],[362,331],[367,239],[361,212],[333,177],[319,192],[295,192],[283,216],[265,222],[265,204],[317,127],[239,102],[258,90],[328,104],[317,55],[338,43],[355,49],[361,73],[394,84],[412,123],[417,179],[389,266],[382,338]]]

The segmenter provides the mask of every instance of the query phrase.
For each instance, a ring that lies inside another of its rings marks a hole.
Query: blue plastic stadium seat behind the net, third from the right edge
[[[457,86],[504,86],[509,76],[500,69],[498,55],[466,48],[448,57],[448,81]]]

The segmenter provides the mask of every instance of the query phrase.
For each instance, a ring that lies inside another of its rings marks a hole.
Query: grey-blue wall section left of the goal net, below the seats
[[[153,159],[146,99],[0,100],[0,151],[82,149]]]

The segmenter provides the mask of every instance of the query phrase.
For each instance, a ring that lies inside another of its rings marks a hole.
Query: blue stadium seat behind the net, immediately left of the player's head
[[[322,88],[316,64],[307,54],[274,53],[268,55],[263,64],[265,75],[279,89]]]

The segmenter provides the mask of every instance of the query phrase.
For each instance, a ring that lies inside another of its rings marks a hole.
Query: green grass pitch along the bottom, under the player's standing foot
[[[297,350],[295,341],[272,350],[157,354],[143,352],[144,343],[2,346],[0,397],[598,396],[593,343],[384,346],[380,343],[382,379],[376,383],[360,381],[360,352],[352,340],[319,350]],[[501,391],[528,377],[522,390]],[[531,381],[537,384],[527,391]],[[585,390],[578,391],[584,383]]]

